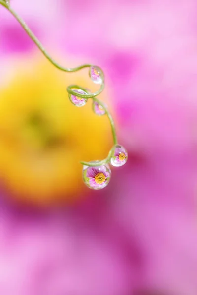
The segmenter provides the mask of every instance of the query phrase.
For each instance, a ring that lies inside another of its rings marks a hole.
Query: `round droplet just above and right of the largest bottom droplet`
[[[120,145],[116,145],[112,148],[112,153],[111,153],[111,165],[115,167],[120,167],[123,166],[128,159],[128,153],[125,148],[123,148]]]

